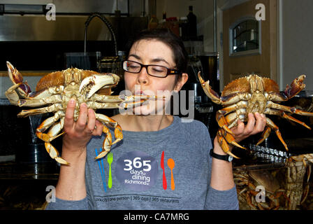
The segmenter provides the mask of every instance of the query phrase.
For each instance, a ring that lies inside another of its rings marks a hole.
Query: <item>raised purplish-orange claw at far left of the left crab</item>
[[[20,83],[20,85],[17,87],[18,92],[22,95],[22,97],[27,97],[29,92],[31,92],[31,87],[29,87],[27,81],[23,83],[22,74],[20,71],[15,69],[15,67],[10,62],[6,62],[6,66],[8,67],[8,76],[10,77],[10,80],[12,80],[14,84]]]

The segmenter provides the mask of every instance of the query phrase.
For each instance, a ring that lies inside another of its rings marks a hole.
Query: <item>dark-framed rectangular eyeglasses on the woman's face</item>
[[[123,70],[130,73],[140,73],[141,69],[147,69],[147,73],[150,76],[165,78],[168,75],[177,75],[181,72],[177,69],[168,69],[166,66],[157,64],[140,64],[133,61],[124,61]]]

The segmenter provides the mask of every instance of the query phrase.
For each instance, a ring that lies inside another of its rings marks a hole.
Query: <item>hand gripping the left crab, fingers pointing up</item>
[[[62,153],[82,153],[92,136],[101,136],[102,123],[96,120],[94,110],[88,109],[87,104],[80,104],[78,120],[74,121],[75,100],[71,99],[66,108],[64,119],[64,136]]]

